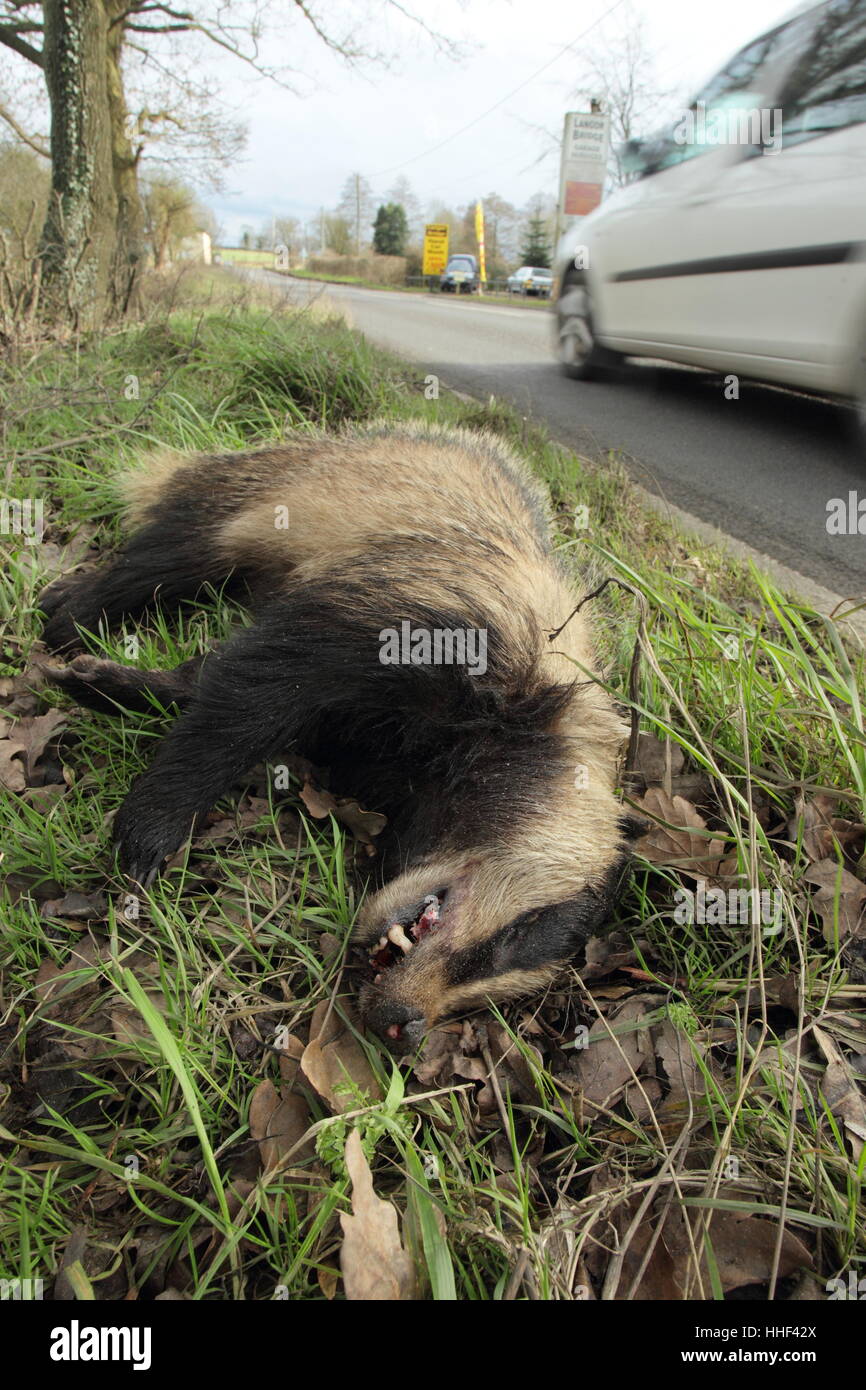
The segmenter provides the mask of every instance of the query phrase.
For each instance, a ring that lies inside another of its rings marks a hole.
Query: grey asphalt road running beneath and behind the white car
[[[327,293],[373,342],[443,384],[507,398],[592,459],[616,452],[667,503],[835,595],[866,598],[866,535],[827,532],[830,499],[866,498],[849,407],[745,381],[726,400],[721,377],[648,363],[569,381],[546,311],[257,275],[299,303]]]

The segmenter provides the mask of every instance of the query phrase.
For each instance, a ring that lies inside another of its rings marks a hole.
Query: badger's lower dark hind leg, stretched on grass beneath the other
[[[82,655],[68,666],[43,664],[42,671],[53,685],[89,709],[106,714],[121,714],[124,710],[147,713],[153,710],[154,701],[164,709],[189,705],[203,662],[203,656],[193,656],[170,671],[153,671]]]

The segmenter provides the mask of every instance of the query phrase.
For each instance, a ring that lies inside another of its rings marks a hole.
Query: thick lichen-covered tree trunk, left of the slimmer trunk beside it
[[[43,309],[72,328],[113,310],[117,193],[107,90],[108,26],[100,0],[44,0],[51,104],[51,197],[42,232]]]

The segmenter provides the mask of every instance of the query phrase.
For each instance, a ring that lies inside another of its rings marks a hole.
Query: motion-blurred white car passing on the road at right
[[[566,234],[557,352],[623,356],[866,402],[866,0],[826,0],[742,49]]]

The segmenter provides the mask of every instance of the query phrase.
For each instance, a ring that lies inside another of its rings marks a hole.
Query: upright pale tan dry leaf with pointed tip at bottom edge
[[[339,1213],[339,1264],[350,1302],[405,1302],[416,1295],[416,1273],[403,1250],[396,1208],[373,1190],[373,1173],[357,1130],[346,1141],[352,1215]]]

